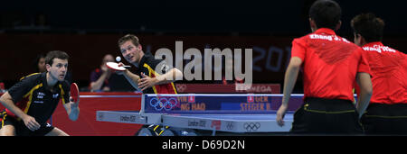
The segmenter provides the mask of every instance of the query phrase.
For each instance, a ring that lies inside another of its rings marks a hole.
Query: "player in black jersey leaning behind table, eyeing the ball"
[[[128,69],[117,71],[132,86],[141,89],[143,94],[177,94],[174,82],[182,79],[183,73],[178,68],[166,65],[165,60],[155,59],[151,52],[144,52],[136,35],[121,37],[118,48],[123,58],[136,67],[135,73]]]

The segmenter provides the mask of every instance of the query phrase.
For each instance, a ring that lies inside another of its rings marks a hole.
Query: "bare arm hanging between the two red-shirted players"
[[[362,117],[364,111],[369,105],[370,98],[372,97],[373,88],[372,80],[368,73],[357,73],[356,75],[357,84],[360,86],[360,95],[357,95],[357,105],[356,110],[359,113],[359,118]]]

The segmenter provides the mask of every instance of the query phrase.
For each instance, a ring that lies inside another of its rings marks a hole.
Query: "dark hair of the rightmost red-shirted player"
[[[364,37],[364,41],[382,41],[383,39],[384,22],[372,13],[356,15],[351,21],[351,27],[355,34]]]

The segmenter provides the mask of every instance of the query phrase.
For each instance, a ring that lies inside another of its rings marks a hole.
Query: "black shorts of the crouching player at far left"
[[[31,131],[28,129],[24,122],[17,121],[14,117],[8,116],[7,113],[2,112],[0,113],[0,120],[1,120],[1,128],[5,125],[13,125],[15,128],[15,135],[17,136],[45,136],[47,133],[53,130],[53,126],[49,123],[41,124],[40,129],[36,131]]]

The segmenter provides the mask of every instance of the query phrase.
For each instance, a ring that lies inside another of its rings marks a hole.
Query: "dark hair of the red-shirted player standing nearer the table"
[[[317,0],[309,9],[309,17],[317,24],[317,28],[335,30],[341,19],[341,7],[331,0]]]

